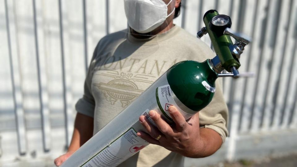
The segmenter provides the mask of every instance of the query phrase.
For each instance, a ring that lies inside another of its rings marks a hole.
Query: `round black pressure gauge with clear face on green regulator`
[[[209,22],[209,28],[213,32],[217,34],[217,36],[221,36],[224,33],[226,28],[231,27],[231,19],[227,15],[215,15]]]

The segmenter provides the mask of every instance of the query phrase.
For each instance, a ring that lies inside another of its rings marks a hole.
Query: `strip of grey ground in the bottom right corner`
[[[206,165],[204,167],[296,167],[297,154],[289,156],[264,158],[259,160],[240,160],[232,163],[220,162],[215,165]]]

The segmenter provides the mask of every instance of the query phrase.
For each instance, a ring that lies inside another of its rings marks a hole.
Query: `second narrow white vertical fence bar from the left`
[[[38,6],[38,7],[37,7]],[[43,20],[42,15],[37,15],[36,10],[41,10],[41,4],[39,1],[33,0],[33,17],[34,17],[34,35],[35,35],[35,48],[37,58],[37,72],[38,72],[38,87],[39,87],[39,100],[40,100],[40,112],[41,112],[41,127],[42,127],[42,141],[43,149],[45,152],[50,150],[50,122],[49,122],[49,96],[47,91],[47,73],[46,73],[46,61],[44,53],[44,45],[39,45],[38,39],[44,41],[43,36]]]

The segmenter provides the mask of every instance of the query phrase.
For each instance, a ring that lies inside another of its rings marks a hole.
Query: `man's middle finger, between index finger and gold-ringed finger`
[[[157,125],[157,128],[159,129],[159,131],[161,131],[164,135],[173,134],[172,128],[170,127],[170,125],[166,121],[164,121],[162,119],[160,114],[158,114],[154,110],[150,110],[149,111],[149,116],[153,119],[153,121]]]

